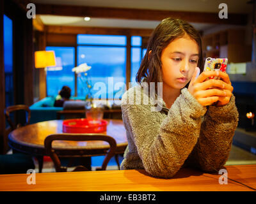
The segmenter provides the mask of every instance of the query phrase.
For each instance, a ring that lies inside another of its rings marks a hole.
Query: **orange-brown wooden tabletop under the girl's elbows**
[[[256,188],[256,165],[225,166],[228,178]],[[232,180],[219,184],[221,175],[182,168],[172,179],[150,177],[145,170],[79,171],[0,175],[0,191],[253,191]]]

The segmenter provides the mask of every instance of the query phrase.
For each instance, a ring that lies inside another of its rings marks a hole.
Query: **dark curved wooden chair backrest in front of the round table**
[[[69,134],[69,133],[60,133],[60,134],[52,134],[45,138],[44,140],[44,146],[47,154],[51,157],[55,169],[57,172],[65,172],[67,171],[67,168],[65,166],[61,166],[60,158],[56,154],[56,151],[52,149],[52,141],[54,140],[68,140],[68,141],[92,141],[92,140],[102,140],[109,143],[110,148],[108,150],[108,153],[105,156],[105,159],[102,163],[102,166],[100,169],[97,170],[106,170],[106,167],[108,165],[109,160],[111,157],[115,156],[115,150],[116,150],[116,140],[112,138],[111,136],[104,135],[104,134],[93,134],[93,133],[86,133],[86,134]],[[63,154],[61,154],[63,156]],[[69,156],[69,154],[67,155]],[[74,155],[72,155],[74,156]],[[79,166],[80,167],[80,166]],[[79,171],[79,168],[77,168]],[[80,168],[81,169],[81,168]],[[74,170],[76,171],[76,169]]]

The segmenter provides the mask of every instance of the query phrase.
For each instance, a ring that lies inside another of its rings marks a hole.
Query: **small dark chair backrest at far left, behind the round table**
[[[29,106],[27,106],[27,105],[8,106],[7,108],[4,109],[4,114],[5,114],[6,120],[10,124],[12,130],[19,128],[21,126],[21,124],[19,122],[17,122],[17,125],[15,125],[15,123],[12,121],[12,119],[10,117],[10,113],[18,111],[18,110],[24,110],[24,111],[28,112],[28,117],[26,117],[25,125],[28,125],[30,122],[31,111],[29,109]]]

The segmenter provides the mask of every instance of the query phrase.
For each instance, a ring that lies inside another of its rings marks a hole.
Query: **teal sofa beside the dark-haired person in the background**
[[[71,97],[70,99],[84,100],[82,97]],[[63,110],[63,107],[54,107],[54,100],[54,97],[46,97],[29,106],[31,110],[30,124],[46,120],[56,120],[57,112]]]

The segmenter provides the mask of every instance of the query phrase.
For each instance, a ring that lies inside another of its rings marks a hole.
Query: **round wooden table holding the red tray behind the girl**
[[[116,154],[122,154],[127,147],[127,138],[122,120],[105,119],[108,121],[107,131],[103,134],[109,135],[116,140]],[[31,154],[38,159],[39,172],[42,172],[43,157],[47,156],[44,147],[44,140],[48,135],[63,133],[63,120],[49,120],[30,124],[22,128],[15,129],[8,136],[8,143],[13,150]],[[54,141],[52,147],[61,150],[72,150],[73,152],[84,152],[84,155],[100,156],[105,155],[109,149],[109,144],[102,141]]]

